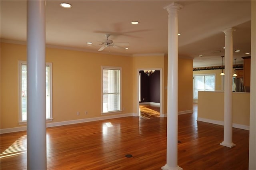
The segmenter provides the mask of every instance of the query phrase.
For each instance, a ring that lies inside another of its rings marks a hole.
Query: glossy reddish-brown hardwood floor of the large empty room
[[[249,131],[178,116],[178,165],[184,170],[248,170]],[[1,170],[26,169],[26,132],[1,134]],[[132,158],[126,158],[132,154]],[[166,118],[125,117],[47,128],[48,170],[160,170],[166,164]]]

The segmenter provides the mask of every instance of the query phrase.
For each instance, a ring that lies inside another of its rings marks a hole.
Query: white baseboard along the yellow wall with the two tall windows
[[[109,115],[109,116],[102,116],[102,117],[93,117],[93,118],[87,118],[87,119],[78,119],[78,120],[72,120],[72,121],[62,121],[62,122],[54,122],[54,123],[46,123],[46,128],[48,127],[58,127],[63,125],[71,125],[76,123],[85,123],[85,122],[92,122],[92,121],[101,121],[106,119],[115,119],[120,117],[129,117],[134,116],[136,114],[134,113],[126,113],[121,115]],[[23,127],[15,127],[15,128],[4,128],[0,130],[0,134],[4,133],[11,133],[11,132],[20,132],[27,130],[26,126]]]

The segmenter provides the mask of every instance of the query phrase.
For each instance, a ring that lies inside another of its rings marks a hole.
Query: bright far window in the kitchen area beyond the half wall
[[[215,91],[215,74],[198,74],[193,79],[193,99],[198,99],[198,91]]]

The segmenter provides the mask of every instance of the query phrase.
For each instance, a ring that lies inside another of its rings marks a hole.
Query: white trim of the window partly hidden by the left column
[[[22,61],[22,60],[19,60],[18,61],[18,102],[19,102],[19,116],[18,116],[18,123],[19,125],[25,125],[27,123],[27,121],[22,121],[22,104],[21,104],[21,95],[22,95],[22,83],[21,80],[22,80],[22,73],[21,73],[21,66],[22,65],[27,65],[27,61]],[[47,122],[49,121],[52,121],[53,118],[52,118],[52,63],[45,63],[45,65],[49,65],[49,71],[50,71],[50,74],[49,74],[49,79],[50,79],[50,118],[46,119]]]

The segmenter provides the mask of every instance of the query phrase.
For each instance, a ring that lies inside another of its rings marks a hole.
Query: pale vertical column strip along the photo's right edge
[[[256,169],[256,1],[251,1],[251,85],[250,85],[250,139],[249,170]]]

